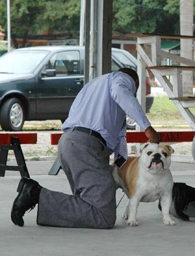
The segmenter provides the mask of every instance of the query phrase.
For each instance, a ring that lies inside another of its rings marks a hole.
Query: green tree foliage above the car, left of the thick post
[[[10,7],[12,40],[17,48],[16,38],[32,34],[43,34],[44,30],[62,32],[79,30],[80,1],[78,0],[12,0]],[[0,2],[0,24],[7,28],[6,1]]]

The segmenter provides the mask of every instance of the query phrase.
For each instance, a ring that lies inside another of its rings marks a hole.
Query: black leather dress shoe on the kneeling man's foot
[[[41,189],[42,187],[32,179],[22,178],[18,184],[18,196],[12,206],[11,219],[15,225],[24,226],[23,216],[27,210],[32,210],[38,203],[39,196],[32,196],[32,189]]]

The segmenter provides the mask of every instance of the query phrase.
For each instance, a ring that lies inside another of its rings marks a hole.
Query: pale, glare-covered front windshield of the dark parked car
[[[0,73],[33,73],[48,51],[13,51],[0,58]]]

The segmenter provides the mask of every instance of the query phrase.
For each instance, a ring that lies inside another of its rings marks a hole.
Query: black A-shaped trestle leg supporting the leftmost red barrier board
[[[9,150],[13,150],[18,165],[7,165],[7,155]],[[9,145],[0,145],[0,176],[5,176],[5,171],[19,171],[21,177],[29,178],[29,171],[26,166],[23,151],[19,138],[11,137]]]

